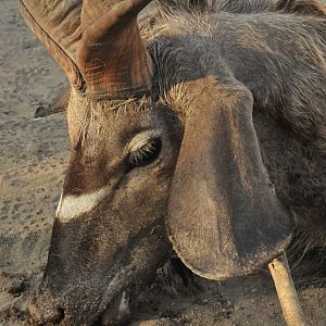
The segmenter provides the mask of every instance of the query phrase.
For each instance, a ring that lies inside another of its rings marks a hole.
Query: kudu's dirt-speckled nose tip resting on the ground
[[[49,303],[42,297],[33,297],[28,309],[33,321],[38,325],[55,325],[64,318],[63,309],[58,304]]]

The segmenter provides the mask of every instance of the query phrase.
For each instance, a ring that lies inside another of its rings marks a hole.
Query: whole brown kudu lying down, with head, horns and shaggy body
[[[123,322],[172,247],[211,279],[325,247],[323,5],[171,0],[137,22],[149,2],[20,1],[71,84],[40,324]]]

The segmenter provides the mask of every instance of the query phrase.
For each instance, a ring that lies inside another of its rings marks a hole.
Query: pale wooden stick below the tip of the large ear
[[[286,253],[268,264],[284,317],[288,326],[305,326]]]

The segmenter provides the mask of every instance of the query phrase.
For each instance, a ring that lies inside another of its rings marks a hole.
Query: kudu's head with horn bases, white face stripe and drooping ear
[[[251,96],[215,110],[198,90],[204,110],[192,112],[185,135],[174,108],[152,96],[155,72],[137,25],[149,2],[21,0],[72,87],[72,156],[42,284],[30,300],[37,323],[124,322],[127,291],[154,275],[170,240],[188,266],[215,279],[248,274],[289,241]]]

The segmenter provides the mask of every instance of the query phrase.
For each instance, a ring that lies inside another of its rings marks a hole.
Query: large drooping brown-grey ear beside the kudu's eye
[[[249,274],[291,238],[292,218],[263,165],[252,106],[244,87],[216,86],[193,101],[185,123],[167,229],[183,262],[206,278]]]

